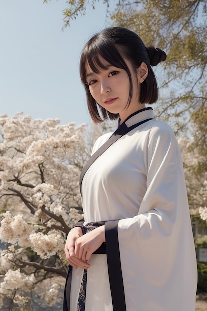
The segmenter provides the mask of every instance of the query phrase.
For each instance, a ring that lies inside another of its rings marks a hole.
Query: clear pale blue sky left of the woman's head
[[[90,122],[79,56],[84,43],[109,25],[102,3],[62,31],[65,1],[0,0],[0,115],[23,111],[62,124]]]

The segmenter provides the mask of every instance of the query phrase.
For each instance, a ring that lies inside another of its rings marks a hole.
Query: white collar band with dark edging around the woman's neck
[[[123,123],[126,124],[127,127],[132,126],[138,122],[141,122],[145,119],[153,119],[154,118],[154,111],[151,107],[140,109],[134,113],[132,113],[129,117],[127,117]],[[119,118],[117,128],[121,125],[121,120]]]

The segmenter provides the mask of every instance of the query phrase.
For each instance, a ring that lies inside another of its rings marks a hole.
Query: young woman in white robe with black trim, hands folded
[[[114,135],[96,141],[82,173],[84,223],[66,241],[72,271],[64,310],[195,311],[180,150],[172,129],[145,107],[158,98],[151,65],[165,59],[119,27],[96,34],[83,49],[80,76],[92,120],[119,120]]]

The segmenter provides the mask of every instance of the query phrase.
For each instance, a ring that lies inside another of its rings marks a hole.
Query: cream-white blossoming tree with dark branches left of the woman
[[[7,245],[0,306],[6,298],[32,310],[31,291],[41,283],[46,304],[58,299],[60,284],[46,280],[66,276],[65,237],[82,218],[79,175],[93,139],[85,131],[59,120],[0,117],[0,240]]]

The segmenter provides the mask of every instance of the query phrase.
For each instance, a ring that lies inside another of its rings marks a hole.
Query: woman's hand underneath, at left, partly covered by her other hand
[[[88,269],[90,265],[85,260],[81,260],[81,258],[79,259],[74,252],[75,242],[80,236],[82,236],[82,229],[80,227],[72,228],[67,236],[64,251],[66,259],[72,267],[75,269],[78,267]]]

